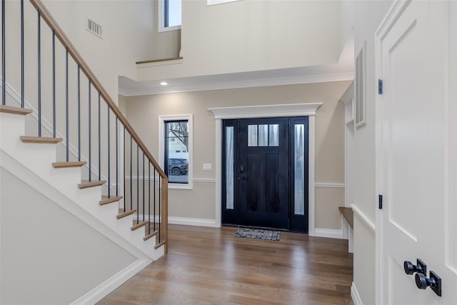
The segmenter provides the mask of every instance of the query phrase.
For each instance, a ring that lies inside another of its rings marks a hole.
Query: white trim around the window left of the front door
[[[188,171],[188,183],[177,184],[169,182],[169,189],[194,189],[194,115],[192,114],[181,114],[176,116],[159,116],[159,164],[162,169],[165,169],[165,138],[164,138],[164,125],[165,121],[178,121],[187,120],[189,121],[189,171]]]

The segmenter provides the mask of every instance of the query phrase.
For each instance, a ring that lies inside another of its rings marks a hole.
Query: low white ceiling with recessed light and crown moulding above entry
[[[250,71],[232,74],[184,77],[154,81],[134,81],[119,76],[119,94],[139,96],[187,91],[248,88],[256,86],[277,86],[286,84],[309,84],[326,81],[353,79],[353,39],[349,39],[336,64],[303,66],[289,69]],[[161,86],[167,81],[168,86]]]

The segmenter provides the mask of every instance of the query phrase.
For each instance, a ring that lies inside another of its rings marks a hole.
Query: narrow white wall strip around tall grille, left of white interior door
[[[354,27],[355,54],[366,41],[366,125],[354,132],[354,193],[353,204],[372,223],[376,223],[375,151],[375,75],[374,34],[392,1],[340,1],[338,3],[338,33],[348,33]],[[363,304],[374,304],[376,294],[376,235],[363,221],[354,216],[354,284]]]

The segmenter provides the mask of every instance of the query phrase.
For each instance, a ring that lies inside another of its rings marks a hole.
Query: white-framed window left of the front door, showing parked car
[[[160,160],[171,189],[192,189],[192,116],[159,116]]]

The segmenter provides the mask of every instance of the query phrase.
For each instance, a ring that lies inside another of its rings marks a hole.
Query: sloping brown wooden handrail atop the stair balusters
[[[57,39],[59,39],[59,41],[61,41],[61,43],[66,47],[66,49],[69,51],[69,54],[71,55],[71,57],[73,57],[76,63],[80,64],[81,70],[84,72],[84,74],[86,74],[86,76],[89,79],[91,79],[91,83],[94,85],[97,91],[99,91],[101,97],[103,97],[104,101],[106,102],[106,104],[108,104],[111,111],[113,111],[114,114],[116,114],[119,121],[121,121],[121,124],[123,124],[126,127],[126,130],[129,131],[129,134],[131,134],[136,143],[139,144],[141,150],[144,151],[144,155],[149,159],[149,161],[151,161],[151,164],[154,165],[154,168],[159,173],[161,178],[168,180],[168,177],[166,176],[165,172],[161,169],[161,166],[159,166],[159,163],[156,161],[156,159],[154,159],[154,156],[152,156],[151,152],[149,152],[149,150],[146,148],[144,142],[141,141],[138,134],[136,134],[134,128],[129,124],[129,121],[127,121],[124,114],[122,114],[121,109],[119,109],[116,103],[114,103],[114,100],[111,99],[111,96],[109,96],[106,89],[104,89],[104,86],[101,85],[101,82],[99,81],[99,79],[97,79],[94,72],[91,71],[89,65],[86,63],[86,61],[84,61],[81,54],[79,54],[79,52],[76,51],[75,46],[71,44],[70,39],[66,36],[66,34],[64,34],[64,31],[61,29],[59,24],[57,24],[57,21],[54,19],[54,17],[51,16],[51,13],[49,13],[48,9],[46,9],[46,6],[44,6],[43,2],[41,2],[41,0],[29,1],[35,7],[36,10],[40,11],[41,18],[44,21],[46,21],[46,24],[48,24],[51,29],[54,29]]]

